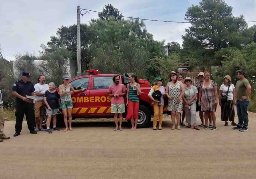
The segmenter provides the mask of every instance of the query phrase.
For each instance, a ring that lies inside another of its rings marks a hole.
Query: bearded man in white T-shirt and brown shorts
[[[38,77],[38,83],[34,86],[35,88],[35,118],[36,118],[36,129],[35,131],[46,131],[42,127],[43,116],[45,115],[45,102],[44,95],[45,91],[49,89],[49,85],[45,84],[46,77],[40,75]]]

